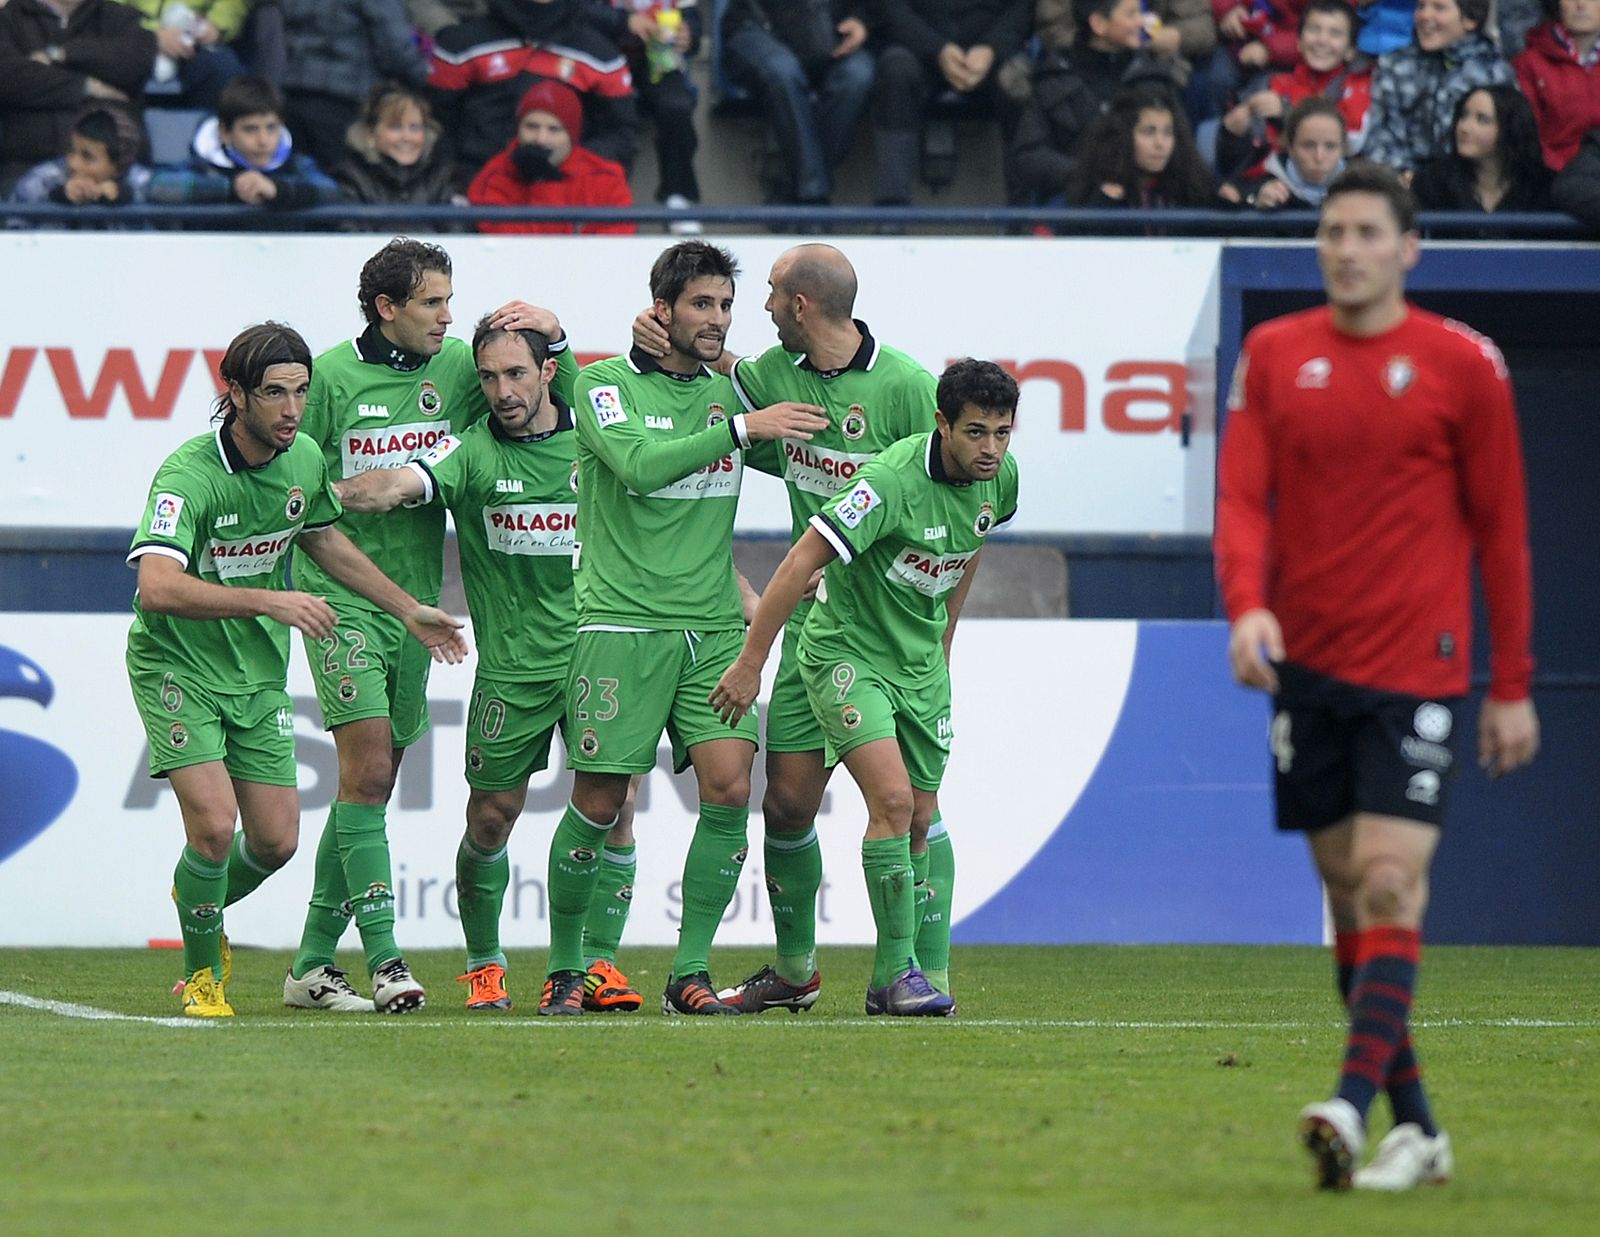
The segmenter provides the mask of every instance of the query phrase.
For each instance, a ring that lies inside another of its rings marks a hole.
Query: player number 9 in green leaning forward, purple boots
[[[710,698],[730,722],[750,707],[778,629],[826,566],[798,661],[827,763],[843,762],[867,800],[861,863],[878,931],[869,1015],[955,1011],[918,967],[910,823],[918,803],[931,815],[950,755],[949,597],[1016,514],[1014,414],[1005,370],[950,365],[938,430],[890,446],[811,517]]]

